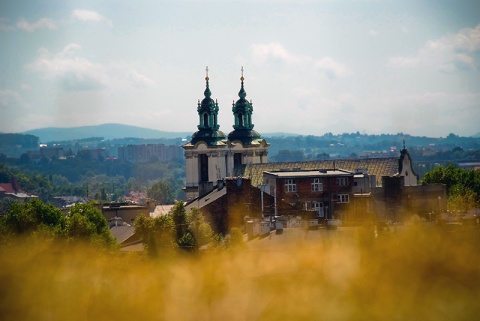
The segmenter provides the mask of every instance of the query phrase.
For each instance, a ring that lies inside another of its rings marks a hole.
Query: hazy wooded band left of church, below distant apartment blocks
[[[0,183],[10,183],[13,178],[23,190],[46,202],[56,196],[122,201],[131,191],[149,194],[163,204],[185,197],[185,164],[180,160],[133,164],[72,157],[0,163]],[[168,186],[167,194],[156,192],[159,184]]]

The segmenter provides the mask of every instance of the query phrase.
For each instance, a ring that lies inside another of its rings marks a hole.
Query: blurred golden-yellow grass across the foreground
[[[252,242],[157,260],[83,244],[19,240],[0,248],[0,320],[473,320],[480,315],[478,228],[410,226],[378,238],[363,228],[339,229],[313,241],[288,233],[256,240],[257,248]],[[262,248],[274,241],[292,246]]]

